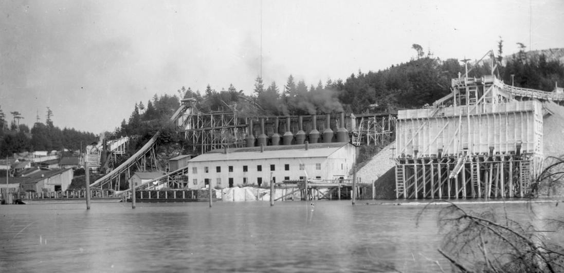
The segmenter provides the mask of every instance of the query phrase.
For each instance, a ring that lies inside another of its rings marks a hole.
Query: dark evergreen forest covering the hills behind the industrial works
[[[547,57],[528,57],[525,46],[518,44],[518,53],[503,60],[503,40],[498,42],[495,74],[505,83],[517,87],[552,91],[555,83],[564,86],[564,66]],[[227,89],[216,91],[210,84],[203,92],[190,87],[177,90],[178,95],[153,96],[146,103],[136,102],[130,117],[122,120],[110,137],[140,136],[141,140],[161,131],[162,141],[182,142],[168,120],[180,106],[181,99],[192,99],[196,108],[204,113],[212,111],[237,111],[241,116],[308,115],[345,111],[347,113],[390,112],[398,109],[420,108],[431,104],[450,92],[451,79],[464,74],[464,64],[457,59],[442,60],[429,51],[425,53],[418,44],[411,60],[391,65],[389,68],[352,73],[345,80],[327,79],[325,83],[306,84],[304,80],[288,76],[285,83],[270,84],[261,77],[255,78],[253,92],[246,95],[231,84]],[[491,64],[478,62],[469,77],[491,74]],[[6,115],[0,108],[0,153],[11,154],[23,150],[79,149],[80,141],[96,141],[94,134],[74,129],[63,130],[52,125],[50,109],[45,124],[36,122],[32,129],[20,124],[21,114],[8,126]],[[25,137],[24,137],[25,136]],[[132,149],[138,145],[132,145]]]

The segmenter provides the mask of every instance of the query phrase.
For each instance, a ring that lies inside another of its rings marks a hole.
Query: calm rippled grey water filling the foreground
[[[373,203],[373,202],[371,202]],[[503,205],[464,205],[480,210]],[[437,212],[350,201],[0,206],[2,272],[436,272]],[[526,204],[506,212],[530,221]],[[539,217],[564,205],[532,205]],[[503,211],[501,211],[503,212]]]

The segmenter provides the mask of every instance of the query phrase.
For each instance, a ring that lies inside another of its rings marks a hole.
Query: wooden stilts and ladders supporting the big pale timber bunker
[[[462,159],[399,159],[396,198],[512,198],[531,193],[532,158],[520,155]],[[460,165],[460,171],[453,169]]]

